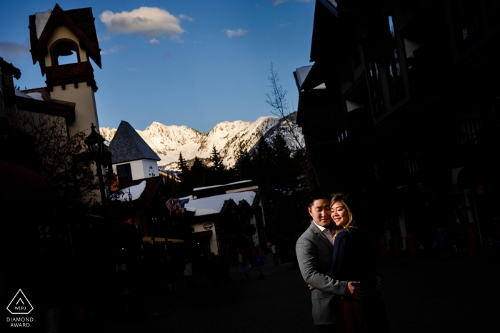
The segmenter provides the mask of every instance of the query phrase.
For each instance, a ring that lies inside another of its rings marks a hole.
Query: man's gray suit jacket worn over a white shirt
[[[326,275],[331,268],[334,246],[311,222],[309,229],[297,240],[296,252],[304,281],[314,287],[311,292],[314,324],[335,324],[339,315],[339,297],[344,296],[347,282]]]

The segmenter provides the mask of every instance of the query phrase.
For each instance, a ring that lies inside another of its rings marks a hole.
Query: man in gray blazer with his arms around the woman
[[[311,287],[312,313],[319,332],[340,332],[339,297],[364,297],[359,282],[333,280],[326,275],[332,265],[334,244],[331,240],[330,193],[317,189],[309,195],[309,215],[313,222],[296,244],[297,259],[304,281]]]

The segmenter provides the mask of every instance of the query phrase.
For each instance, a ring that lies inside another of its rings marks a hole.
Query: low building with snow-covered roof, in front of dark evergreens
[[[259,187],[252,180],[195,188],[186,198],[186,219],[198,254],[265,245]]]

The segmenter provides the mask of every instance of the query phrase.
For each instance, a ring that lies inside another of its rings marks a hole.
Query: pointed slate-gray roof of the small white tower
[[[161,160],[126,121],[121,121],[108,149],[113,153],[113,164],[129,160]]]

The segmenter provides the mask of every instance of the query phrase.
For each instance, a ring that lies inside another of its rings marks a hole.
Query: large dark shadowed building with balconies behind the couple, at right
[[[316,0],[294,73],[309,178],[371,202],[383,251],[500,240],[499,33],[496,1]]]

